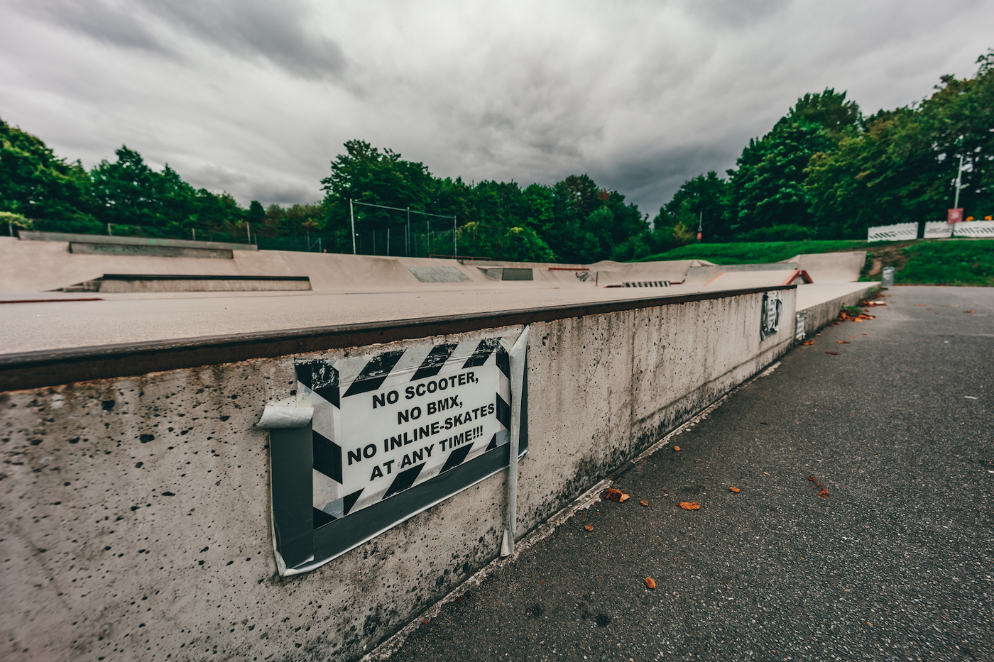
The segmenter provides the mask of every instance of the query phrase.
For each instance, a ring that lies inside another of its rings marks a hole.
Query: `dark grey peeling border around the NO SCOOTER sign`
[[[459,355],[453,352],[452,343],[427,345],[424,342],[403,343],[391,348],[377,348],[366,355],[373,368],[364,369],[365,374],[373,376],[374,381],[383,383],[402,359],[400,355],[406,352],[416,352],[425,356],[425,363],[431,363],[434,357],[435,368],[440,369],[438,357],[445,354],[445,360],[466,362],[465,365],[483,366],[488,363],[496,365],[501,374],[510,380],[510,403],[507,403],[502,425],[510,428],[510,420],[520,411],[520,433],[518,443],[518,458],[528,453],[528,371],[527,343],[514,345],[508,351],[517,334],[508,338],[504,336],[477,336],[472,342],[475,350],[467,358],[465,353]],[[427,350],[427,351],[426,351]],[[387,367],[387,362],[393,366]],[[445,360],[441,363],[445,363]],[[516,365],[522,365],[524,370],[515,371]],[[386,371],[378,372],[375,367],[387,367]],[[340,396],[339,375],[334,370],[333,361],[322,359],[296,359],[295,367],[298,376],[298,398],[301,393],[321,394],[328,399]],[[437,371],[436,371],[437,372]],[[418,374],[415,372],[415,375]],[[518,380],[512,379],[513,374],[520,374]],[[423,373],[421,373],[423,378]],[[316,381],[315,381],[316,380]],[[354,381],[355,376],[353,377]],[[363,385],[365,389],[370,384]],[[496,397],[500,401],[500,395]],[[311,405],[311,402],[302,403]],[[500,402],[495,403],[496,409],[504,409]],[[318,416],[319,407],[314,408]],[[496,414],[496,412],[495,412]],[[329,453],[330,440],[325,434],[316,432],[314,427],[321,428],[324,423],[315,423],[310,416],[301,426],[272,426],[269,429],[269,458],[271,467],[271,503],[273,546],[276,552],[276,565],[282,576],[307,573],[319,568],[329,561],[366,543],[382,533],[392,529],[414,515],[448,499],[476,483],[506,470],[510,462],[509,434],[501,439],[494,438],[486,443],[482,452],[471,453],[471,458],[456,462],[452,466],[442,467],[437,474],[423,482],[415,483],[406,489],[399,489],[389,496],[365,505],[361,509],[352,510],[355,500],[347,507],[338,504],[339,510],[329,508],[339,517],[330,516],[327,512],[315,508],[314,487],[316,480],[322,480],[325,472],[341,480],[342,456],[341,448],[338,454]],[[289,423],[289,424],[300,424]],[[263,426],[260,421],[259,426]],[[332,446],[338,447],[332,443]],[[464,446],[468,449],[467,446]],[[337,459],[336,459],[337,457]],[[335,462],[338,462],[336,467]],[[319,468],[320,467],[320,468]],[[336,474],[336,471],[338,472]],[[403,486],[402,486],[403,488]],[[388,490],[389,491],[389,490]],[[348,498],[351,495],[346,495]],[[342,499],[338,499],[339,502]],[[330,504],[329,504],[330,505]]]

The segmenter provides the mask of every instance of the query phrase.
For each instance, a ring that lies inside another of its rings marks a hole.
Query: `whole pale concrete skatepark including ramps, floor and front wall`
[[[857,281],[861,252],[540,264],[200,244],[0,238],[4,633],[35,651],[12,659],[358,659],[877,286]],[[439,474],[458,488],[323,515],[309,436],[303,473],[281,473],[295,432],[260,417],[318,393],[302,363],[428,365],[498,339],[511,422]]]

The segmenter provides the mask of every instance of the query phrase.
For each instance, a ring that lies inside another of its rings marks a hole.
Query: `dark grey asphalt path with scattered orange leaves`
[[[389,659],[994,660],[994,289],[885,297]]]

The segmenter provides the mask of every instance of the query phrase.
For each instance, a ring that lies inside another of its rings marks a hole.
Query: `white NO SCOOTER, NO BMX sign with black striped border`
[[[314,527],[508,443],[514,338],[297,360],[314,410]]]

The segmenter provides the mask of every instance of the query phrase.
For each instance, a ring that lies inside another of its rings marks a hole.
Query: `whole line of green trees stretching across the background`
[[[331,161],[320,201],[245,208],[126,146],[86,170],[2,119],[0,221],[260,248],[351,252],[355,241],[365,253],[457,249],[580,263],[661,253],[696,241],[699,226],[714,243],[860,239],[870,226],[944,219],[960,159],[960,206],[976,218],[994,212],[994,52],[977,63],[971,79],[942,77],[927,98],[869,116],[844,91],[805,94],[749,140],[735,168],[686,181],[651,223],[585,174],[525,187],[467,183],[362,140]]]

